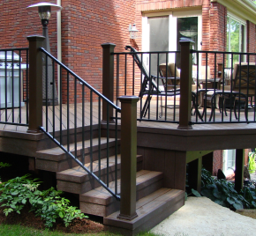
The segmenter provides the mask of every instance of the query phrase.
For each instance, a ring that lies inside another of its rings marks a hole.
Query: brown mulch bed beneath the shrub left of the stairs
[[[29,212],[28,208],[21,210],[20,215],[16,212],[11,212],[8,217],[5,217],[3,209],[0,209],[0,224],[24,225],[34,227],[39,230],[45,229],[44,222],[41,220],[41,218],[35,217],[34,213]],[[56,222],[53,230],[64,233],[96,233],[104,231],[104,225],[86,218],[76,218],[68,227],[65,227],[62,222]]]

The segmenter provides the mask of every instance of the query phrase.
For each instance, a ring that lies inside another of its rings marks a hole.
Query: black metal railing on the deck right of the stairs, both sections
[[[180,62],[180,51],[137,52],[125,48],[128,53],[113,54],[116,97],[139,96],[138,121],[179,122],[179,109],[183,108],[179,107],[183,89],[179,66],[184,63]],[[192,70],[192,78],[187,79],[192,84],[191,123],[255,122],[256,54],[196,50],[190,54],[192,68],[188,70]],[[189,58],[187,55],[186,60]],[[250,63],[246,67],[243,62]]]

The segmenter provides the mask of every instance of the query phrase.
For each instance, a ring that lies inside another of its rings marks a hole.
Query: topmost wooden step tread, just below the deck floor
[[[107,137],[101,137],[101,148],[106,148],[107,147]],[[109,138],[109,147],[115,145],[115,138]],[[119,139],[118,139],[118,144],[119,144]],[[93,143],[93,151],[97,151],[99,147],[99,139],[98,138],[93,138],[92,140]],[[84,151],[85,154],[90,152],[90,140],[84,141]],[[64,145],[64,148],[67,149],[67,145]],[[83,150],[83,142],[80,141],[77,143],[77,154],[81,155]],[[70,151],[72,154],[75,152],[75,144],[70,144]],[[54,160],[61,160],[65,158],[65,152],[59,148],[51,148],[51,149],[46,149],[46,150],[41,150],[36,152],[36,158],[37,159],[54,159]],[[58,158],[58,159],[56,159]]]

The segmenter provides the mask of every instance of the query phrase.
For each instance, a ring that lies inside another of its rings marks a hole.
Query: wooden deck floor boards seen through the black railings
[[[82,126],[82,104],[79,103],[77,104],[77,127],[81,127]],[[102,108],[102,107],[101,107]],[[46,114],[46,107],[42,108],[43,110],[43,127],[46,127],[46,121],[45,121],[45,114]],[[48,120],[48,125],[49,125],[49,131],[52,131],[52,126],[53,126],[53,119],[52,119],[52,107],[48,107],[49,110],[49,120]],[[172,118],[172,113],[173,113],[173,109],[167,109],[168,110],[168,118]],[[90,115],[89,115],[89,111],[90,111],[90,107],[89,107],[89,103],[85,103],[85,125],[89,125],[90,124]],[[19,122],[19,117],[18,117],[18,112],[19,112],[19,108],[15,108],[14,109],[15,112],[15,120],[14,122]],[[70,128],[74,128],[74,105],[71,104],[69,106],[69,118],[70,118],[70,122],[69,122],[69,127]],[[177,112],[177,119],[178,119],[178,109],[176,109]],[[200,112],[202,112],[202,109],[200,109]],[[55,130],[60,130],[60,120],[59,120],[59,114],[60,114],[60,107],[59,106],[55,106]],[[94,102],[93,103],[93,124],[98,124],[98,102]],[[12,121],[12,109],[7,109],[7,114],[8,114],[8,122]],[[22,122],[26,122],[26,107],[22,107],[21,108],[21,114],[22,114]],[[67,122],[67,105],[64,104],[62,107],[62,129],[66,129],[68,126],[68,122]],[[151,109],[151,114],[153,114],[151,117],[155,117],[155,113],[154,110]],[[209,117],[210,114],[210,108],[207,109],[207,118]],[[228,112],[228,115],[230,113]],[[244,111],[242,111],[241,113],[241,121],[245,121],[245,114]],[[119,114],[120,115],[120,114]],[[254,113],[253,112],[249,112],[248,113],[249,116],[249,120],[251,120],[254,117]],[[138,110],[138,117],[139,117],[139,110]],[[235,116],[233,114],[232,116],[232,121],[236,121],[235,120]],[[1,121],[5,121],[5,109],[1,110]],[[215,114],[215,121],[216,122],[221,122],[222,121],[222,114],[219,114],[218,110],[216,109],[216,114]],[[101,117],[102,119],[102,117]],[[163,118],[162,118],[163,119]],[[159,121],[161,121],[162,119],[159,119]],[[192,121],[195,120],[195,116],[192,116]],[[229,121],[229,116],[224,117],[224,121],[228,122]],[[120,122],[120,121],[118,121]],[[200,121],[199,121],[200,122]],[[172,123],[172,122],[137,122],[138,127],[144,127],[144,128],[155,128],[155,129],[177,129],[178,124],[177,123]],[[26,132],[26,127],[23,126],[19,126],[19,125],[9,125],[9,124],[3,124],[0,123],[0,130],[10,130],[10,131],[18,131],[18,132]],[[246,122],[241,122],[241,123],[204,123],[204,122],[200,122],[198,124],[193,124],[192,125],[192,129],[193,130],[216,130],[216,129],[256,129],[256,123],[249,123],[247,124]]]

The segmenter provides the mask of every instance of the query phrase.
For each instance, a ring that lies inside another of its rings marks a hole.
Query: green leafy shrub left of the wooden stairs
[[[49,228],[57,219],[68,226],[74,218],[88,218],[76,207],[70,206],[70,201],[60,196],[61,191],[54,188],[40,191],[37,189],[39,185],[40,182],[30,179],[29,174],[0,184],[0,203],[3,203],[1,207],[5,207],[5,216],[12,211],[20,214],[20,210],[29,204],[31,211],[45,220],[45,225]]]

